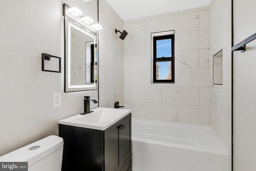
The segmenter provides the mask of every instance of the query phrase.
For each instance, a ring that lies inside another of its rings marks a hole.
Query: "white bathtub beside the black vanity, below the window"
[[[210,126],[132,118],[132,171],[228,171]]]

